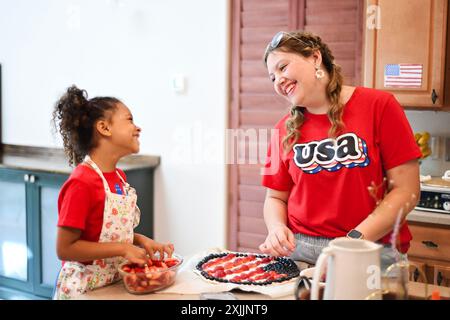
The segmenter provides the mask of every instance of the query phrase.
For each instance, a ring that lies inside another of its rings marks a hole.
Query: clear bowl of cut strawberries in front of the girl
[[[145,294],[166,288],[175,282],[175,278],[183,263],[183,258],[178,254],[172,254],[169,258],[148,259],[145,265],[125,261],[119,265],[119,273],[122,276],[125,289],[133,294]]]

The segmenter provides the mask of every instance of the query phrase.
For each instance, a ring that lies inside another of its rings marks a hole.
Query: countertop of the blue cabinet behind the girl
[[[156,168],[160,157],[131,155],[124,157],[118,167],[124,171]],[[3,145],[0,153],[0,168],[70,174],[73,170],[62,149]]]

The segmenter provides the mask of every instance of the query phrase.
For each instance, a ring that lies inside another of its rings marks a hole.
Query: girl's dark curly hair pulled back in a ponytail
[[[54,128],[59,131],[64,152],[70,165],[78,165],[96,147],[94,126],[97,120],[106,119],[107,111],[116,108],[120,100],[113,97],[88,99],[86,90],[75,85],[56,102],[53,110]]]

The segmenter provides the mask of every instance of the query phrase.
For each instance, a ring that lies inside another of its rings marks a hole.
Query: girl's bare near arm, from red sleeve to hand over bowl
[[[92,261],[97,259],[124,257],[132,263],[144,264],[147,252],[130,243],[92,242],[80,240],[81,230],[58,227],[56,252],[63,261]]]

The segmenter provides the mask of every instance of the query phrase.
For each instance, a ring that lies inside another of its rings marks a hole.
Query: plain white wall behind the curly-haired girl
[[[116,96],[162,159],[155,238],[225,246],[228,16],[227,0],[0,0],[3,143],[62,147],[51,112],[71,84]]]

